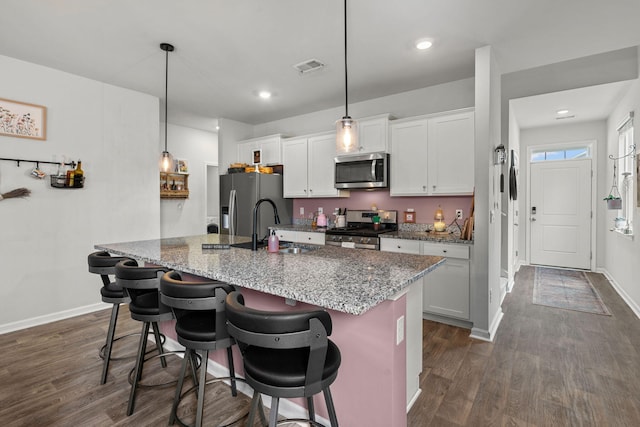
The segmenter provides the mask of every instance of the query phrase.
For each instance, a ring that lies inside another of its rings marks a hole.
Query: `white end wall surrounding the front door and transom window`
[[[593,153],[595,158],[594,167],[597,168],[596,174],[596,197],[599,195],[609,194],[609,188],[607,185],[611,185],[611,174],[606,172],[603,168],[606,163],[606,122],[604,120],[596,120],[591,122],[581,122],[567,125],[555,125],[545,126],[539,128],[522,129],[520,131],[520,183],[519,185],[519,210],[522,213],[520,216],[520,235],[518,239],[520,242],[527,242],[526,239],[526,221],[529,220],[529,215],[526,212],[527,201],[527,189],[529,183],[527,182],[527,151],[529,147],[535,145],[554,145],[567,142],[577,141],[596,141],[597,153]],[[613,173],[613,172],[611,172]],[[605,194],[606,193],[606,194]],[[596,203],[595,224],[596,224],[596,241],[602,242],[605,236],[605,225],[602,218],[605,215],[606,206],[604,203]],[[527,244],[522,244],[520,259],[526,261],[528,259],[529,247]],[[604,250],[602,246],[598,245],[595,248],[596,266],[604,265]]]

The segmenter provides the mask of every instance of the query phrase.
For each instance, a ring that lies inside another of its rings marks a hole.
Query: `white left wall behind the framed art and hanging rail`
[[[0,56],[3,98],[47,107],[47,139],[0,136],[2,157],[82,160],[85,187],[56,189],[31,163],[0,161],[0,333],[101,307],[87,270],[97,243],[160,232],[158,99]],[[55,174],[55,165],[40,165]]]

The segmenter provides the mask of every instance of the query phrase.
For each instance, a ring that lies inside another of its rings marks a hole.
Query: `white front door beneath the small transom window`
[[[531,264],[591,266],[591,159],[531,164]]]

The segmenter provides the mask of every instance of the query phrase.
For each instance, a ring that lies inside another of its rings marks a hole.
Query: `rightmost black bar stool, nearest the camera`
[[[277,424],[281,397],[306,397],[309,419],[305,421],[319,425],[313,396],[322,392],[331,426],[337,427],[329,386],[338,376],[341,357],[338,347],[327,338],[332,328],[329,313],[254,310],[244,306],[239,292],[227,296],[226,313],[229,334],[242,351],[245,380],[254,390],[247,425],[253,425],[260,393],[272,398],[269,427]]]

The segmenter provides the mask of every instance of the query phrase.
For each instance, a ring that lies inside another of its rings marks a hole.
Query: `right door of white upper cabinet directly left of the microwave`
[[[309,138],[309,197],[338,197],[335,188],[335,150],[336,136],[333,132]]]

